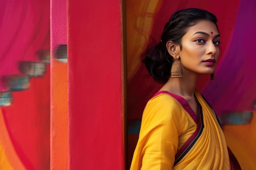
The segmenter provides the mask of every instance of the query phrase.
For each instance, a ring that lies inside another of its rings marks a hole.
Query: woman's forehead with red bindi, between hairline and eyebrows
[[[209,20],[201,20],[198,21],[194,26],[189,27],[185,35],[193,35],[198,31],[202,31],[210,35],[212,34],[213,36],[219,34],[217,26],[213,22]]]

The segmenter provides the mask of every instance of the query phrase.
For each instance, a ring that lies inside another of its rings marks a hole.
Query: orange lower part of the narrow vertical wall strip
[[[68,169],[67,63],[52,61],[51,170]]]

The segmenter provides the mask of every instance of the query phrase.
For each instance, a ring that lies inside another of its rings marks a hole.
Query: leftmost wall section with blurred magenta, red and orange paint
[[[6,155],[13,170],[49,169],[49,30],[48,1],[0,2],[0,91],[13,96],[1,107],[0,158]]]

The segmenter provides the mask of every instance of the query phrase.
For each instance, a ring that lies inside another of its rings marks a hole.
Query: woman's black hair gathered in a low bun
[[[186,34],[189,27],[194,26],[200,20],[210,20],[217,26],[215,15],[196,8],[175,12],[165,24],[161,42],[148,48],[145,52],[146,57],[142,60],[155,81],[166,83],[170,77],[173,57],[168,53],[166,43],[173,41],[173,43],[179,44],[182,50],[182,37]]]

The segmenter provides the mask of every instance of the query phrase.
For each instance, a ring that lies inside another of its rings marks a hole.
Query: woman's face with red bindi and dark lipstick
[[[201,20],[191,26],[182,37],[179,56],[184,72],[211,74],[218,56],[220,34],[216,25],[209,20]]]

